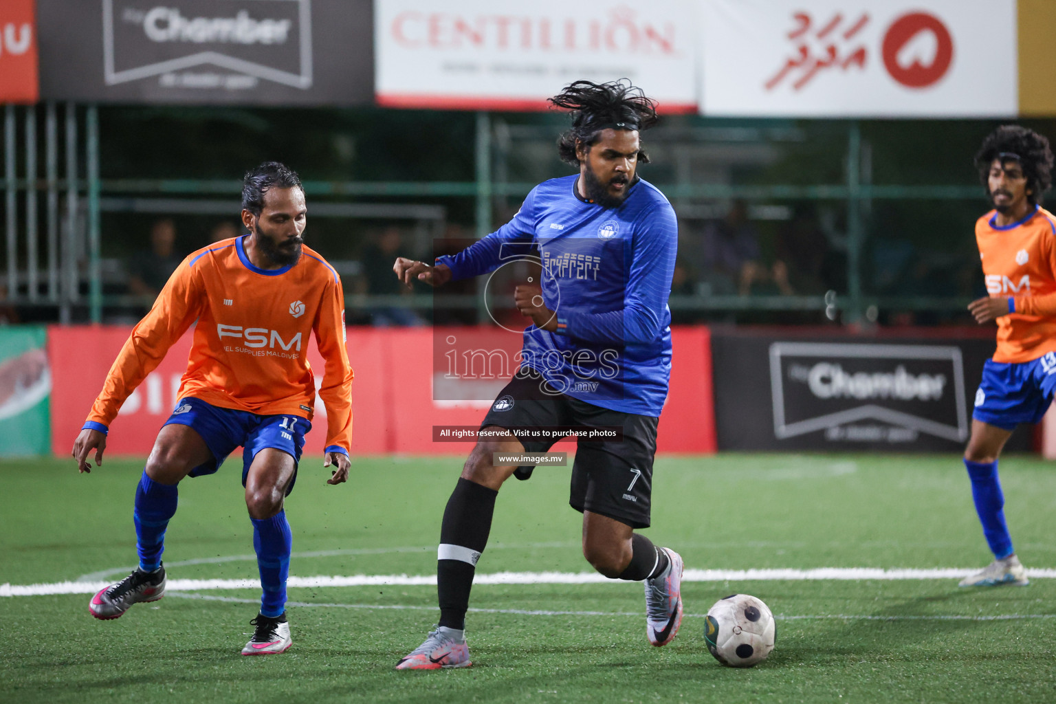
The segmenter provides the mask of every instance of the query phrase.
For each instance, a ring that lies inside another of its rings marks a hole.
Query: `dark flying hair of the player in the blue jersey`
[[[589,148],[598,140],[599,133],[607,128],[638,130],[642,132],[657,122],[656,100],[645,97],[626,78],[608,83],[578,80],[550,98],[555,108],[572,111],[572,127],[558,139],[558,154],[562,161],[579,166],[576,146]],[[647,164],[649,157],[639,151],[638,160]]]

